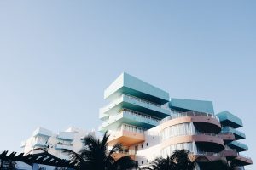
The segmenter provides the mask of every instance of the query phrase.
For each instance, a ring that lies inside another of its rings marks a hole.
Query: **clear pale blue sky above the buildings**
[[[97,129],[123,71],[243,120],[256,161],[256,1],[0,1],[0,150],[38,127]],[[247,167],[256,169],[256,166]]]

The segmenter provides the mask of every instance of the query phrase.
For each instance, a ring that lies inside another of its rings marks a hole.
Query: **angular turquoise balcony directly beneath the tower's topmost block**
[[[157,105],[150,101],[139,99],[127,94],[119,96],[118,99],[115,99],[112,103],[103,107],[100,110],[100,115],[112,115],[113,113],[121,111],[123,108],[142,112],[150,116],[158,117],[160,119],[170,115],[170,111],[168,109],[162,108],[161,105]]]

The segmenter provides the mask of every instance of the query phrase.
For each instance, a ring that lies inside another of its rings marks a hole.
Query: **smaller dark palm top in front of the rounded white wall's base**
[[[189,160],[188,150],[175,150],[171,156],[166,158],[158,157],[150,162],[150,167],[143,167],[148,170],[193,170],[194,163]]]

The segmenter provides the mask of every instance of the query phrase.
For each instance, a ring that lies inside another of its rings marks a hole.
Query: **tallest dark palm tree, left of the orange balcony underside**
[[[102,140],[96,139],[93,135],[88,135],[82,139],[84,147],[79,153],[73,150],[63,150],[71,160],[77,162],[77,167],[82,170],[126,170],[135,167],[135,161],[130,156],[123,156],[118,160],[113,158],[113,154],[122,149],[122,144],[114,144],[108,150],[108,132],[104,133]]]

